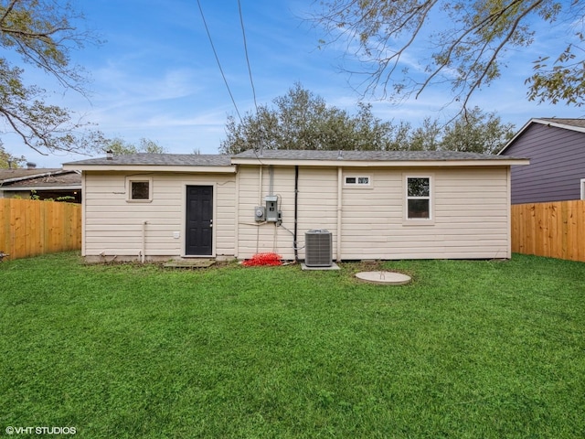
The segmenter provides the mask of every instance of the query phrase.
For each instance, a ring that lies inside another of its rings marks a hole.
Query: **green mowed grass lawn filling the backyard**
[[[585,437],[585,264],[0,263],[0,435]]]

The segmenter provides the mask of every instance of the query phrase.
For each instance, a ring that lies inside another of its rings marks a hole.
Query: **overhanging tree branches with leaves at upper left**
[[[65,1],[0,0],[0,47],[16,54],[23,65],[48,73],[62,87],[85,93],[83,70],[71,65],[69,58],[70,50],[95,41],[74,26],[80,18]],[[101,134],[90,131],[73,112],[45,102],[46,91],[26,85],[23,73],[21,66],[0,57],[4,133],[16,133],[25,145],[45,155],[79,152],[101,142]]]

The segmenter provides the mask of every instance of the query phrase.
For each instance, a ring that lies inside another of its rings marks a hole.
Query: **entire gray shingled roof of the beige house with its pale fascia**
[[[293,163],[291,163],[293,162]],[[135,154],[112,159],[92,158],[63,165],[80,170],[160,170],[188,172],[236,172],[234,165],[308,165],[308,166],[505,166],[527,165],[524,158],[484,155],[456,151],[313,151],[254,150],[238,155]],[[343,165],[342,165],[343,164]]]

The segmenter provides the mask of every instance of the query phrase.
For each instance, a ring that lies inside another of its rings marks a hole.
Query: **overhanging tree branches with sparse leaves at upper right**
[[[325,29],[328,40],[322,43],[346,41],[350,56],[363,63],[359,73],[367,77],[366,93],[418,97],[433,84],[449,83],[463,113],[475,91],[501,76],[505,51],[533,42],[538,22],[563,19],[582,27],[585,16],[579,0],[324,0],[320,5],[313,20]],[[585,103],[583,40],[574,27],[569,47],[552,65],[548,56],[536,60],[527,79],[529,99]],[[433,48],[431,57],[421,59],[421,48]],[[408,59],[421,59],[424,71],[405,68]]]

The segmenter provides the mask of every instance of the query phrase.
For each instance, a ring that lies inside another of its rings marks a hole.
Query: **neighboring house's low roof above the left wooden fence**
[[[81,188],[81,176],[61,168],[0,169],[0,190],[48,187]]]

